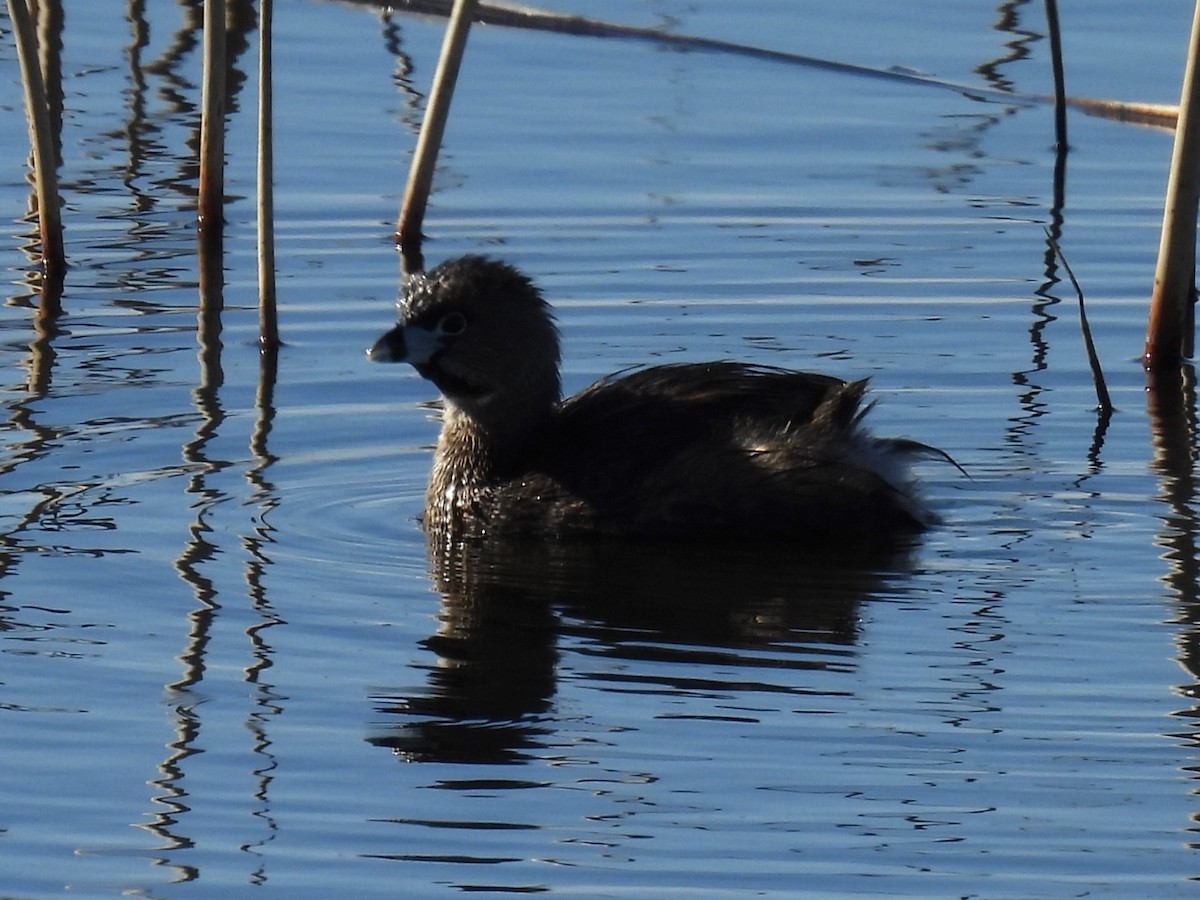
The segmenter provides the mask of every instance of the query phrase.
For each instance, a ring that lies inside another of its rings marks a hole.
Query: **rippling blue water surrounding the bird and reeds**
[[[1177,98],[1188,4],[1060,6],[1070,94]],[[1170,134],[1073,113],[1056,208],[1024,96],[476,29],[426,256],[535,276],[569,390],[654,360],[870,376],[877,431],[970,478],[923,466],[943,524],[854,568],[430,560],[434,394],[362,352],[444,23],[277,4],[271,371],[253,49],[202,329],[199,5],[66,7],[41,334],[0,19],[0,896],[1194,893],[1195,403],[1157,415],[1136,362]],[[558,8],[1050,90],[1040,4]]]

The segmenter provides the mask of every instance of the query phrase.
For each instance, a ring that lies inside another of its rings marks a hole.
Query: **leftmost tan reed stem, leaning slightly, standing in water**
[[[60,311],[62,280],[66,275],[66,251],[62,246],[62,216],[59,209],[59,180],[54,161],[54,137],[46,83],[37,54],[37,34],[25,0],[8,0],[25,86],[25,113],[34,156],[34,193],[37,202],[37,227],[42,241],[42,302],[50,314]]]

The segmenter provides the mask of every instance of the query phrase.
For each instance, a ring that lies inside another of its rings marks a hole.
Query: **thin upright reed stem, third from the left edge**
[[[277,347],[275,306],[275,151],[271,101],[272,0],[258,8],[258,342]]]

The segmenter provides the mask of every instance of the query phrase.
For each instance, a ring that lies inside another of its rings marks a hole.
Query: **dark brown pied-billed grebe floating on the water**
[[[368,353],[445,398],[431,534],[894,539],[929,516],[872,437],[866,382],[740,362],[654,366],[560,398],[558,330],[510,265],[452,259],[408,280]]]

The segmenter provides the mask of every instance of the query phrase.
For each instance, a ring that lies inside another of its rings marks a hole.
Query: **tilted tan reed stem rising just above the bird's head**
[[[413,151],[413,166],[408,173],[408,185],[404,200],[401,204],[400,218],[396,222],[396,241],[400,246],[406,274],[420,271],[424,268],[421,257],[421,226],[425,222],[425,208],[430,199],[433,184],[433,169],[445,134],[446,119],[450,115],[450,101],[454,97],[455,83],[458,79],[458,67],[467,47],[467,35],[475,18],[479,0],[455,0],[450,13],[450,24],[442,42],[442,55],[433,74],[433,89],[430,92],[430,104],[421,124],[421,133]]]

